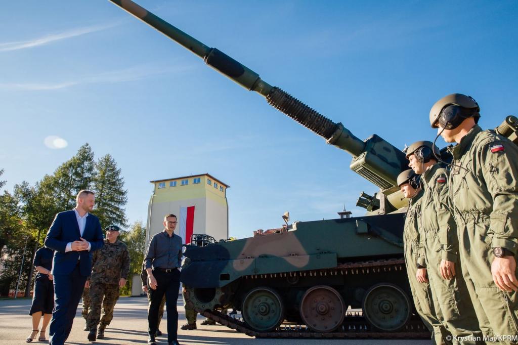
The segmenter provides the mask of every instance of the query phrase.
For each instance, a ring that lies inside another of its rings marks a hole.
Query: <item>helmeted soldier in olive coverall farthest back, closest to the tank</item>
[[[437,319],[431,298],[430,284],[426,277],[426,262],[424,248],[420,246],[418,217],[421,215],[421,200],[423,190],[419,184],[419,175],[412,169],[405,170],[397,177],[397,185],[403,195],[409,199],[408,210],[403,230],[405,263],[407,265],[408,281],[414,299],[416,311],[426,327],[430,330],[436,344],[450,344],[451,334]],[[447,341],[446,336],[450,336]]]

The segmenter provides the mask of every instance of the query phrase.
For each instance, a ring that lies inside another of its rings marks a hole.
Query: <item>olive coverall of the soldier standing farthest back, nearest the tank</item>
[[[418,217],[421,213],[421,200],[423,191],[414,195],[408,203],[405,228],[403,230],[403,243],[405,263],[407,264],[408,281],[414,299],[415,310],[419,313],[426,327],[432,333],[436,344],[444,344],[445,336],[450,335],[435,315],[434,305],[431,300],[429,283],[420,283],[416,278],[417,265],[425,267],[424,248],[420,248],[420,233],[418,230]],[[450,343],[450,342],[448,342]]]

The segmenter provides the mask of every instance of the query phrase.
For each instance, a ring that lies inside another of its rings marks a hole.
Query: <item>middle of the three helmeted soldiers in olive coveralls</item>
[[[482,332],[469,298],[468,287],[458,260],[455,220],[448,197],[446,170],[434,155],[439,149],[430,141],[416,141],[409,146],[409,166],[422,176],[424,194],[419,228],[424,246],[428,279],[439,321],[463,343],[480,343]],[[454,341],[455,342],[455,341]]]

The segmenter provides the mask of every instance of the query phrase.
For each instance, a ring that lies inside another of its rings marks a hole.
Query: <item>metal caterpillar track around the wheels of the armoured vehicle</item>
[[[283,272],[277,274],[268,275],[254,275],[247,276],[246,278],[265,278],[271,276],[272,278],[277,277],[289,277],[292,275],[363,275],[372,274],[381,271],[391,270],[403,270],[405,260],[400,259],[389,259],[389,260],[377,260],[377,261],[365,261],[355,263],[343,263],[337,267],[330,269],[311,270],[311,271],[300,271],[300,272]],[[399,332],[379,332],[373,330],[372,326],[367,320],[360,315],[359,312],[347,312],[344,321],[338,330],[330,333],[318,333],[313,332],[305,325],[286,325],[283,324],[275,329],[273,332],[256,332],[249,328],[246,323],[239,319],[229,317],[228,315],[222,314],[219,311],[212,310],[200,310],[196,309],[200,314],[205,317],[209,317],[214,321],[237,330],[237,332],[244,333],[250,337],[256,338],[348,338],[348,339],[430,339],[430,333],[425,325],[422,323],[419,317],[412,317],[404,329]]]

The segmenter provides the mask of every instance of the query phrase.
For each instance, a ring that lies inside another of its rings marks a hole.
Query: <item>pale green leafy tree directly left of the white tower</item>
[[[146,252],[146,227],[142,224],[142,221],[136,221],[130,226],[130,231],[121,234],[120,239],[126,243],[130,253],[130,275],[126,286],[122,289],[123,294],[128,294],[132,289],[133,275],[140,275],[142,269],[144,253]]]

